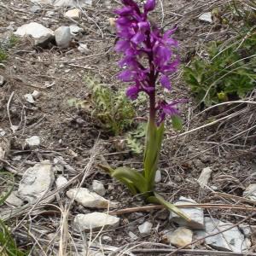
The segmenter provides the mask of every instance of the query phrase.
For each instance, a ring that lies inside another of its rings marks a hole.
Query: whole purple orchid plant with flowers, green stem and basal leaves
[[[177,55],[173,52],[173,49],[177,49],[177,41],[172,38],[177,28],[174,27],[162,33],[148,20],[148,12],[154,10],[156,6],[155,0],[147,0],[143,4],[143,11],[134,0],[121,2],[124,6],[115,10],[115,14],[118,15],[116,27],[119,37],[115,49],[124,55],[124,58],[119,61],[119,67],[124,68],[119,73],[119,79],[131,83],[126,90],[126,95],[131,100],[137,99],[140,92],[146,93],[149,98],[143,172],[137,172],[125,166],[116,169],[110,166],[99,166],[124,183],[133,194],[143,195],[146,201],[162,204],[183,218],[189,219],[154,191],[154,178],[165,128],[164,120],[166,115],[169,115],[172,118],[172,125],[175,125],[178,115],[177,103],[183,102],[156,101],[158,82],[164,89],[172,89],[169,76],[177,70],[179,63]]]

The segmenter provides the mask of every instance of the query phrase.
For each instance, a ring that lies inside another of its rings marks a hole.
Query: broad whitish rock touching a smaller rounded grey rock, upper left
[[[54,38],[54,32],[38,22],[31,22],[18,27],[15,35],[20,37],[32,36],[32,38],[35,39],[35,44],[37,45],[44,44],[46,41]]]

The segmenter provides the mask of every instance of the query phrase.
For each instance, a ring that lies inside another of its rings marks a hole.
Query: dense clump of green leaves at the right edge
[[[183,68],[185,81],[199,102],[211,106],[246,96],[256,86],[256,33],[224,45],[212,42],[207,58]]]

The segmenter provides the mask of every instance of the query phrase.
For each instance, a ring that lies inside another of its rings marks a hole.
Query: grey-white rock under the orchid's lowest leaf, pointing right
[[[179,200],[175,202],[176,206],[191,204],[196,204],[196,201],[183,196],[181,196]],[[204,229],[204,212],[201,208],[182,208],[181,211],[184,212],[191,219],[191,221],[186,221],[174,212],[170,212],[170,220],[179,224],[180,226],[189,227],[192,230]]]

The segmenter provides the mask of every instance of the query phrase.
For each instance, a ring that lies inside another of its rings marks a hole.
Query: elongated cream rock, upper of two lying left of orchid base
[[[90,192],[89,189],[85,188],[69,189],[67,191],[67,196],[70,199],[74,199],[84,207],[102,209],[107,209],[108,206],[116,207],[116,204],[108,201],[101,195],[96,194],[95,192]]]

